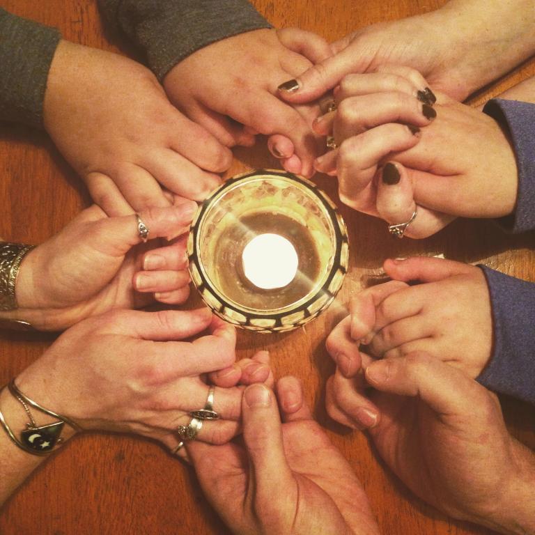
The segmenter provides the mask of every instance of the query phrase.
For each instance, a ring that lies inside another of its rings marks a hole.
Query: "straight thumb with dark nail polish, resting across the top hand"
[[[296,79],[288,80],[279,86],[279,96],[293,104],[316,100],[334,86],[341,79],[355,70],[355,59],[349,48],[342,50],[336,56],[324,59],[312,65]]]

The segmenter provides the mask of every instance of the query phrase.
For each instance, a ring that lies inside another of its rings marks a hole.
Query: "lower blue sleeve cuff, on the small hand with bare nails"
[[[493,355],[477,380],[535,404],[535,284],[479,265],[493,313]]]

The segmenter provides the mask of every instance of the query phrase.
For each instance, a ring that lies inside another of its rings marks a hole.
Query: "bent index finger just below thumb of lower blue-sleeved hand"
[[[375,334],[376,309],[389,295],[407,288],[401,281],[389,281],[357,293],[350,302],[350,333],[355,341],[367,343]]]

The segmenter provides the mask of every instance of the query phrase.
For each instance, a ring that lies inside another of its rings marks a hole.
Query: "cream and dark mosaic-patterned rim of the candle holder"
[[[322,215],[328,219],[332,231],[332,243],[334,252],[329,259],[329,266],[323,277],[321,285],[312,288],[299,300],[275,309],[251,309],[243,304],[225,297],[222,291],[216,287],[210,279],[203,261],[199,243],[203,233],[203,223],[220,199],[223,199],[231,189],[242,184],[249,184],[254,180],[281,180],[288,185],[295,185],[306,190],[307,195],[317,203]],[[329,199],[327,194],[319,189],[311,181],[284,171],[260,169],[243,173],[226,182],[213,192],[204,201],[192,221],[187,240],[187,254],[189,257],[189,274],[197,290],[212,311],[228,323],[256,332],[286,332],[305,325],[316,318],[322,311],[329,307],[334,297],[339,292],[343,279],[348,269],[349,247],[346,224],[343,222],[336,205]]]

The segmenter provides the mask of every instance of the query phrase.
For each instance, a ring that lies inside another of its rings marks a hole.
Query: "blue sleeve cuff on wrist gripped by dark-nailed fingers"
[[[518,167],[518,193],[513,214],[498,219],[504,230],[535,229],[535,104],[518,100],[489,100],[483,112],[509,130]]]

